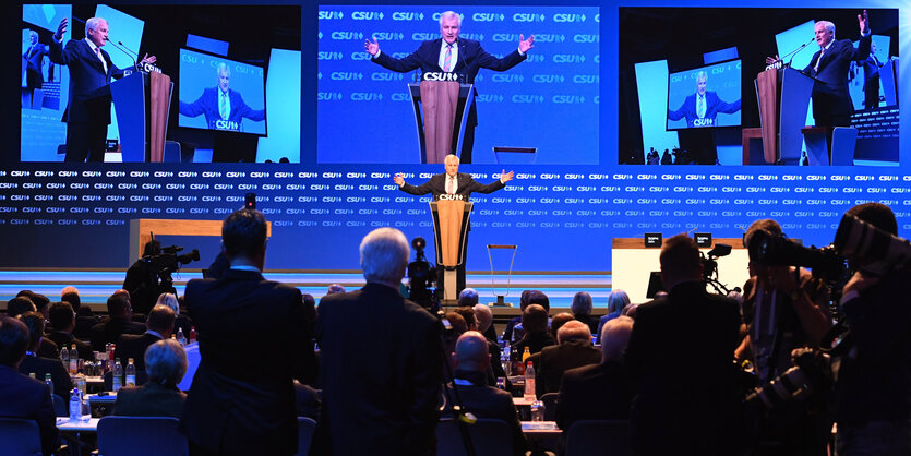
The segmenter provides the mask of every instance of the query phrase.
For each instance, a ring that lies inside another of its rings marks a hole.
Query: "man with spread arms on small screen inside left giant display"
[[[203,91],[193,103],[180,101],[180,115],[188,117],[205,116],[209,130],[243,131],[244,118],[261,121],[266,118],[265,109],[253,109],[243,103],[240,92],[231,91],[231,69],[219,63],[216,69],[218,85]]]

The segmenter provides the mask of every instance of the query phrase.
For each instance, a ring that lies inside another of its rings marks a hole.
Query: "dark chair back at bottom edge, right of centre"
[[[628,420],[580,420],[566,431],[566,456],[632,456]]]

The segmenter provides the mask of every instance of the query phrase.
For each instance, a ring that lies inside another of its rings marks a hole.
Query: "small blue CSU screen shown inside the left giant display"
[[[266,133],[261,67],[180,49],[179,87],[180,127]]]

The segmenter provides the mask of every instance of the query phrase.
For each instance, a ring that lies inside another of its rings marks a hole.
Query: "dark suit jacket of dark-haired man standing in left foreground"
[[[241,269],[190,280],[184,302],[201,361],[181,431],[212,453],[295,454],[293,380],[316,373],[313,308],[297,288]]]

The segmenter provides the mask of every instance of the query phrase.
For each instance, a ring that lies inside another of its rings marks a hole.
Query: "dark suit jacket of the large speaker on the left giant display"
[[[64,122],[110,123],[110,80],[123,76],[123,70],[101,49],[107,71],[85,39],[50,44],[50,61],[70,69],[70,99],[63,112]]]

